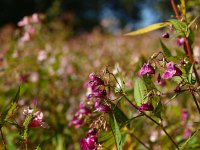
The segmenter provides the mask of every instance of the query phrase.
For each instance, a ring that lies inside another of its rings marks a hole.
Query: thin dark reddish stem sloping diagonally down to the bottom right
[[[125,99],[136,109],[138,110],[138,107],[136,105],[134,105],[130,99],[123,93]],[[162,124],[158,123],[156,120],[154,120],[151,116],[147,115],[144,112],[141,112],[145,117],[147,117],[149,120],[151,120],[152,122],[154,122],[156,125],[158,125],[164,132],[165,134],[168,136],[168,138],[171,140],[171,142],[176,146],[176,148],[179,150],[178,145],[176,144],[176,142],[173,140],[173,138],[169,135],[169,133],[167,133],[166,129],[163,127]]]

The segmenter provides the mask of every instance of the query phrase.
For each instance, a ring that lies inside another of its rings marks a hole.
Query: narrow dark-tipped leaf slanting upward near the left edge
[[[3,113],[4,117],[3,120],[6,122],[16,111],[17,109],[17,102],[19,100],[19,94],[20,94],[20,87],[17,90],[17,93],[15,94],[15,97],[12,99],[12,102],[10,104],[10,107]]]

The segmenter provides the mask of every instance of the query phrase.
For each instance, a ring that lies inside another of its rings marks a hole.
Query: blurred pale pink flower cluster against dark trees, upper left
[[[39,14],[34,13],[32,16],[25,16],[18,22],[18,26],[24,30],[23,36],[21,37],[22,42],[30,41],[36,34],[36,24],[40,23],[41,17]]]

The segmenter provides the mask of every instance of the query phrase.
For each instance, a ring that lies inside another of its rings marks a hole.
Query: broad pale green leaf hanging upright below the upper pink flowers
[[[134,84],[134,98],[137,106],[141,106],[142,103],[147,102],[147,98],[145,98],[145,91],[147,91],[147,88],[144,81],[140,78],[136,78]]]

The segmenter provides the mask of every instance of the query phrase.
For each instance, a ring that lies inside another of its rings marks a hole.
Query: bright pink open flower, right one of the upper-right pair
[[[164,71],[162,78],[163,79],[170,79],[174,76],[181,76],[182,72],[179,68],[174,65],[174,62],[169,62],[166,65],[166,70]]]

